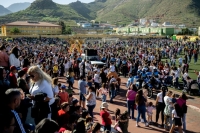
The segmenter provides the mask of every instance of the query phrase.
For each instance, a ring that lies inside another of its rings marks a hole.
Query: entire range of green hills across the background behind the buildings
[[[129,24],[139,18],[154,19],[186,26],[200,25],[199,0],[95,0],[60,5],[52,0],[36,0],[30,7],[0,17],[0,23],[17,20],[57,22],[58,20],[92,20]]]

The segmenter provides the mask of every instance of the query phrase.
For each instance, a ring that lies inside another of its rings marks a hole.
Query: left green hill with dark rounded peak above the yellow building
[[[85,20],[68,5],[59,5],[52,0],[36,0],[23,11],[0,17],[0,23],[27,20],[57,22],[76,19]]]

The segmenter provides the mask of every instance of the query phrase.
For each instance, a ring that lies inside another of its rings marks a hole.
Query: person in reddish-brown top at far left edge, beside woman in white
[[[6,53],[6,47],[4,45],[0,46],[0,66],[9,70],[9,57]]]

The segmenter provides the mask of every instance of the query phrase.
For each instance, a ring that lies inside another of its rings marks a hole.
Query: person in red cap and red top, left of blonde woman
[[[10,67],[10,74],[9,74],[9,80],[10,80],[10,87],[11,88],[17,88],[18,87],[16,73],[17,73],[17,68],[15,66],[11,66]]]

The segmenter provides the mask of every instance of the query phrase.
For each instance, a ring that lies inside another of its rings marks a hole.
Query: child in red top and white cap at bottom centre
[[[102,125],[104,126],[104,131],[109,130],[111,131],[111,124],[112,124],[112,118],[111,115],[108,113],[108,103],[102,102],[101,104],[101,111],[100,116],[102,119]]]

